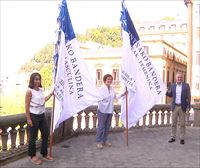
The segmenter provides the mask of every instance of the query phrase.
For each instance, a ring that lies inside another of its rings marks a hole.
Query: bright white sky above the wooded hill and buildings
[[[55,37],[60,0],[0,0],[1,76],[15,74]],[[164,16],[187,21],[183,0],[125,0],[132,20],[155,21]],[[120,0],[69,0],[69,14],[75,33],[87,28],[120,26]]]

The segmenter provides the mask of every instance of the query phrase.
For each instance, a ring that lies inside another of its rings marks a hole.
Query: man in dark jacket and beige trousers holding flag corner
[[[170,90],[167,91],[166,96],[172,97],[172,132],[171,139],[168,141],[172,143],[176,138],[177,120],[180,121],[180,144],[184,144],[185,138],[185,113],[191,108],[191,93],[189,84],[183,82],[182,73],[176,74],[176,83],[171,85]]]

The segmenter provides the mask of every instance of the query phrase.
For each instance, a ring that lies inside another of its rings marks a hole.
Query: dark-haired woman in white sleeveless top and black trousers
[[[51,161],[53,158],[48,156],[48,125],[45,118],[45,102],[50,99],[53,92],[44,97],[41,75],[39,73],[32,73],[29,80],[29,89],[25,96],[25,111],[27,124],[30,130],[30,139],[28,146],[28,155],[34,164],[42,164],[42,160],[36,156],[36,138],[38,130],[41,132],[42,145],[41,155],[43,159]]]

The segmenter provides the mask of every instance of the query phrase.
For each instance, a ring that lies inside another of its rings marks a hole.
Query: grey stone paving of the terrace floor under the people
[[[185,144],[179,138],[168,143],[170,127],[129,130],[125,135],[110,133],[112,147],[97,149],[95,135],[81,135],[53,147],[54,161],[33,165],[28,157],[2,168],[200,168],[200,128],[187,127]],[[177,137],[180,130],[177,129]],[[39,155],[39,154],[38,154]]]

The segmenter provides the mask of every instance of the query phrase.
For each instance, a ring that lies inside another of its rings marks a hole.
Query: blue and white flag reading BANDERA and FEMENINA
[[[128,128],[134,126],[165,94],[165,87],[150,57],[144,50],[131,17],[122,1],[123,57],[121,78],[128,89]],[[126,100],[123,98],[122,121],[126,126]]]

